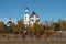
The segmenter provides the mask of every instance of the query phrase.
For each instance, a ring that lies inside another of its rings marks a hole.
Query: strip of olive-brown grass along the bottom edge
[[[66,42],[0,42],[0,44],[66,44]]]

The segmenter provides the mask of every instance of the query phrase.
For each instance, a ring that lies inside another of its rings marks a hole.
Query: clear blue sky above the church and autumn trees
[[[13,22],[23,19],[24,9],[29,7],[29,13],[35,11],[41,21],[66,20],[66,0],[0,0],[0,20],[12,18]]]

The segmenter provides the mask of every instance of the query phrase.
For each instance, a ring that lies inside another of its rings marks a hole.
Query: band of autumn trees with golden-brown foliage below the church
[[[29,25],[25,28],[23,24],[23,20],[19,20],[18,23],[10,23],[10,25],[4,24],[3,21],[0,21],[0,33],[7,34],[22,34],[22,35],[30,35],[30,36],[50,36],[51,34],[55,33],[56,31],[65,31],[66,30],[66,21],[58,20],[57,22],[50,22],[50,23],[41,23],[35,21],[33,25]]]

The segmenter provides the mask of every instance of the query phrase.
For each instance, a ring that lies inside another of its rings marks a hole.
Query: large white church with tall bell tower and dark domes
[[[25,13],[24,13],[24,25],[33,25],[35,21],[38,21],[38,15],[33,11],[31,15],[29,14],[29,8],[25,8]]]

